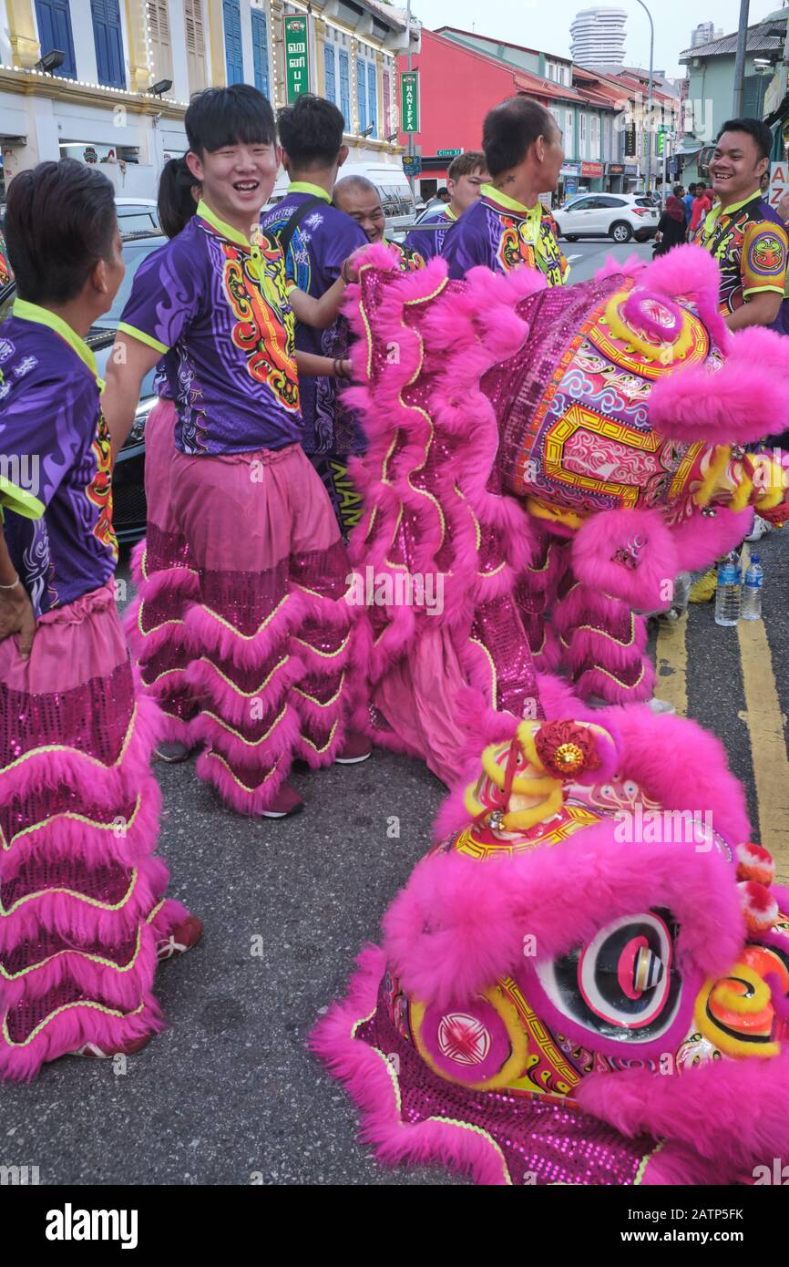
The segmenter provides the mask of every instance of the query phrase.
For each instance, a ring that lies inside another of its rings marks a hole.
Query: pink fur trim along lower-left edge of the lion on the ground
[[[362,1111],[362,1140],[389,1166],[439,1162],[477,1183],[507,1183],[500,1154],[481,1133],[451,1123],[403,1121],[386,1057],[353,1038],[353,1026],[375,1010],[386,963],[377,946],[366,946],[357,963],[348,997],[332,1003],[310,1034],[309,1047]]]

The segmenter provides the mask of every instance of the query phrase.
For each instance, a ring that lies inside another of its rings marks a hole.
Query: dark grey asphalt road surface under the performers
[[[581,256],[576,279],[609,251],[628,253],[610,243],[572,246]],[[767,682],[774,672],[770,694],[785,717],[789,530],[765,540],[760,554],[769,650],[757,669]],[[759,822],[737,630],[718,628],[712,607],[693,607],[684,642],[686,666],[669,658],[661,674],[685,674],[688,712],[726,744]],[[766,784],[762,770],[761,787],[780,797],[789,769],[785,739],[775,742],[778,764]],[[193,764],[157,765],[157,775],[172,893],[203,917],[205,938],[162,967],[157,992],[168,1029],[129,1058],[125,1073],[109,1060],[66,1059],[44,1066],[30,1086],[3,1088],[0,1166],[37,1166],[48,1185],[461,1182],[442,1169],[379,1167],[356,1142],[346,1093],[305,1049],[317,1016],[343,991],[360,946],[376,939],[381,915],[427,850],[442,784],[417,761],[376,753],[358,767],[299,774],[306,811],[271,822],[223,808]],[[391,816],[399,839],[386,834]]]

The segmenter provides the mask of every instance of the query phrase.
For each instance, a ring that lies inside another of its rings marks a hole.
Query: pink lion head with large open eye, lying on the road
[[[483,751],[319,1024],[384,1161],[732,1183],[786,1154],[789,892],[717,741],[615,715]]]

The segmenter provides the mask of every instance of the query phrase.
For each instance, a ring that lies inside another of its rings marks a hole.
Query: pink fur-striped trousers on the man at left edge
[[[58,647],[75,663],[81,644],[95,675],[58,691]],[[5,684],[25,674],[29,692]],[[148,713],[104,592],[71,622],[68,608],[39,622],[27,665],[0,642],[0,1077],[161,1028],[151,920],[167,869]]]

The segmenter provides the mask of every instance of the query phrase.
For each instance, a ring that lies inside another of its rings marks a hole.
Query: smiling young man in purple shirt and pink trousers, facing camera
[[[203,200],[134,277],[105,408],[118,446],[144,374],[172,351],[170,497],[186,542],[185,680],[203,703],[193,722],[205,744],[198,773],[241,813],[284,817],[301,808],[286,782],[294,758],[319,767],[370,751],[346,732],[346,552],[299,445],[298,370],[339,366],[295,351],[294,312],[329,324],[344,280],[319,300],[305,295],[287,281],[276,239],[260,232],[280,150],[257,89],[198,94],[185,125]]]

